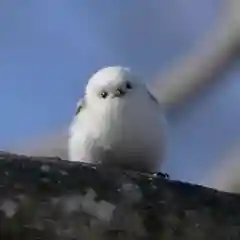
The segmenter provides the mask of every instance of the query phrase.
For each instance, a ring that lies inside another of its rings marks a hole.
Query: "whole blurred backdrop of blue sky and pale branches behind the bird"
[[[89,76],[124,65],[166,106],[162,171],[240,191],[239,15],[239,0],[2,0],[0,149],[67,159]]]

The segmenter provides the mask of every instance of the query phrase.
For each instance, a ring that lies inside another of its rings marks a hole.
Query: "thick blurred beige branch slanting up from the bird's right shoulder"
[[[189,102],[237,57],[240,44],[240,1],[224,2],[224,16],[218,25],[201,39],[188,56],[177,59],[165,76],[159,76],[149,86],[155,97],[166,107],[179,108]],[[159,81],[161,79],[161,81]]]

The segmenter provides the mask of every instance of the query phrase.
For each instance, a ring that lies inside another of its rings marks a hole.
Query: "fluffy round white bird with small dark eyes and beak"
[[[165,152],[165,118],[129,68],[100,69],[89,80],[69,129],[69,160],[156,172]]]

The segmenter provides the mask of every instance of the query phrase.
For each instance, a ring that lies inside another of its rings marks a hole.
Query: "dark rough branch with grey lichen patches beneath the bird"
[[[240,239],[239,202],[161,176],[0,154],[0,239]]]

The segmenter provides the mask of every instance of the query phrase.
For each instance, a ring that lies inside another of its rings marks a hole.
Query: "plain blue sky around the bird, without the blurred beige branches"
[[[0,148],[68,124],[89,75],[103,66],[130,66],[146,78],[169,69],[171,60],[217,21],[220,3],[1,1]],[[187,169],[188,180],[200,178],[223,146],[239,138],[237,68],[225,74],[227,84],[209,90],[176,122],[170,120],[166,165],[174,176],[186,176]]]

